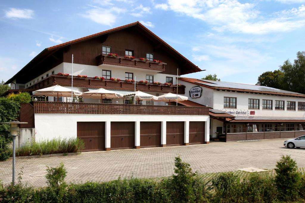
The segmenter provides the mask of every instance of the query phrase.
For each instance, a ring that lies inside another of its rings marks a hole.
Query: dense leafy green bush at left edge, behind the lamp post
[[[0,97],[0,122],[15,121],[19,113],[19,103]],[[7,146],[9,142],[12,142],[12,138],[9,136],[9,124],[0,124],[0,161],[9,158],[11,153]]]

